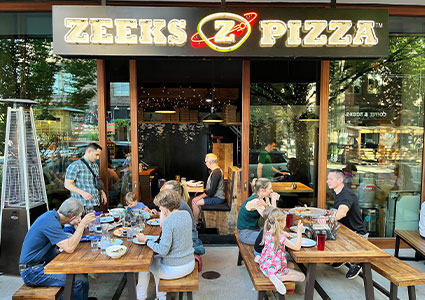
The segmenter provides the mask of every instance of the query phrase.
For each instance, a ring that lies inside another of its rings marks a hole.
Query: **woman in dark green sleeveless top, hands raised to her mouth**
[[[242,203],[237,223],[239,240],[248,245],[255,244],[260,232],[258,220],[263,216],[264,209],[276,207],[279,200],[279,194],[273,192],[272,183],[267,178],[254,178],[252,190],[254,193]]]

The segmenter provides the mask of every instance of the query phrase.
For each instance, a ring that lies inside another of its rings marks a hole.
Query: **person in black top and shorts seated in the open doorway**
[[[192,199],[192,210],[196,226],[199,226],[202,205],[217,205],[225,201],[223,171],[217,164],[217,156],[208,153],[205,156],[205,165],[211,170],[205,191]]]

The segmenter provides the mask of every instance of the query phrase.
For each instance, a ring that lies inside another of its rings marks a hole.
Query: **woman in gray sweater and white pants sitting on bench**
[[[180,195],[173,190],[161,191],[154,199],[161,210],[161,240],[159,243],[147,240],[143,234],[139,242],[146,242],[155,255],[149,270],[155,278],[156,296],[165,300],[166,293],[158,292],[159,279],[176,279],[192,273],[195,257],[192,246],[192,218],[187,211],[180,211]],[[149,272],[139,273],[137,299],[146,299]]]

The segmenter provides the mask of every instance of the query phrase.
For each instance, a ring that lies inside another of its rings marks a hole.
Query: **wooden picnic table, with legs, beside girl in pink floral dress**
[[[287,249],[297,264],[306,265],[306,286],[304,299],[313,299],[316,285],[316,264],[318,263],[362,263],[363,281],[367,300],[374,299],[371,262],[378,258],[388,258],[390,254],[379,249],[368,240],[341,224],[336,240],[327,240],[325,250],[317,247],[301,248],[298,251]],[[319,286],[321,289],[321,287]],[[322,290],[323,291],[323,290]],[[319,293],[321,291],[318,290]]]

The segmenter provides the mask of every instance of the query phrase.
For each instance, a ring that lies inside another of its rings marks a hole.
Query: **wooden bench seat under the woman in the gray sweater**
[[[198,262],[195,263],[193,272],[179,279],[161,279],[158,285],[158,291],[167,293],[167,300],[183,299],[183,293],[186,293],[187,299],[192,300],[192,292],[198,290]]]

